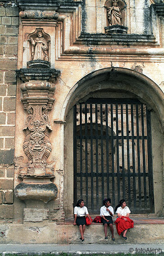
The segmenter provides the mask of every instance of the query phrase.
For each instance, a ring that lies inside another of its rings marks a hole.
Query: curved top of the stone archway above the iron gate
[[[62,120],[65,120],[68,109],[84,97],[84,92],[102,89],[124,90],[133,93],[157,113],[164,127],[164,93],[159,86],[144,74],[115,67],[96,70],[80,79],[67,94],[61,112]]]

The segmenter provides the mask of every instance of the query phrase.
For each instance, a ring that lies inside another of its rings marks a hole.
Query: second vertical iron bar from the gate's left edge
[[[82,104],[80,103],[80,198],[83,198]]]

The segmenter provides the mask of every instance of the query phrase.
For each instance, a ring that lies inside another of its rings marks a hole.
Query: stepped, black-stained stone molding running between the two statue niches
[[[47,17],[49,17],[49,22],[53,22],[53,11],[57,11],[58,6],[58,14],[54,14],[55,19],[54,22],[57,22],[56,25],[56,37],[55,37],[55,45],[58,47],[56,51],[56,59],[61,58],[62,55],[67,58],[70,54],[89,54],[89,47],[87,46],[94,46],[97,45],[96,51],[94,51],[95,55],[103,55],[103,54],[114,54],[114,53],[104,53],[101,48],[103,46],[110,46],[110,45],[140,45],[140,46],[159,46],[159,42],[155,38],[154,35],[151,34],[121,34],[114,33],[114,34],[103,34],[103,33],[86,33],[84,32],[84,11],[81,1],[65,1],[58,4],[57,1],[53,0],[46,6],[46,1],[43,0],[41,3],[38,0],[34,2],[25,1],[25,0],[18,0],[19,7],[24,10],[20,12],[20,17],[22,18],[22,22],[25,24],[33,22],[46,22]],[[27,11],[31,9],[31,11]],[[36,17],[36,12],[32,11],[32,9],[37,10],[38,18]],[[68,23],[66,23],[65,17],[67,14],[71,15],[71,30],[72,33],[69,35],[69,39],[64,42],[65,38],[63,36],[64,31],[70,30],[67,28]],[[43,15],[43,19],[40,20],[41,16]],[[57,18],[58,17],[58,18]],[[29,21],[28,21],[29,19]],[[79,45],[79,46],[77,46]],[[106,47],[105,47],[106,48]],[[76,50],[77,49],[77,50]],[[86,49],[86,50],[85,50]],[[125,49],[125,48],[124,48]],[[126,54],[129,55],[129,48],[125,49],[127,52]],[[124,55],[120,52],[115,52],[115,54]],[[144,55],[144,53],[138,53],[139,55]],[[153,52],[149,51],[149,55],[154,55]]]

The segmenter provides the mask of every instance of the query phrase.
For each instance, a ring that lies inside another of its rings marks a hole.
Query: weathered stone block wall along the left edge
[[[0,218],[13,218],[18,7],[0,2]]]

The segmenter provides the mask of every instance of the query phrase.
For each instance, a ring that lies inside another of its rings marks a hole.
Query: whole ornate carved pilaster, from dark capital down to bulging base
[[[34,61],[40,66],[43,61]],[[46,61],[44,61],[46,62]],[[35,66],[35,65],[34,65]],[[53,106],[55,81],[60,71],[51,69],[21,69],[17,74],[24,82],[20,88],[21,101],[28,116],[25,122],[25,140],[22,148],[28,163],[21,163],[19,178],[22,180],[15,187],[15,195],[24,200],[24,222],[40,222],[48,219],[47,202],[58,195],[58,188],[52,182],[54,169],[47,164],[52,146],[49,133],[52,131],[49,111]]]

